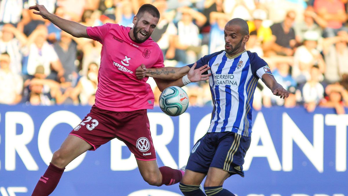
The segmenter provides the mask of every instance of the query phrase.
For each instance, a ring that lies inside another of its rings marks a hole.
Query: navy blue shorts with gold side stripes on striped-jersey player
[[[207,133],[193,146],[186,169],[208,173],[215,167],[244,177],[243,164],[251,137],[230,131]]]

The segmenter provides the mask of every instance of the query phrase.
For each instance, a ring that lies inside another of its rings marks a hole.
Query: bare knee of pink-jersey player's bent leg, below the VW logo
[[[146,161],[136,159],[136,163],[138,164],[139,172],[144,180],[161,178],[162,174],[159,171],[156,160]]]

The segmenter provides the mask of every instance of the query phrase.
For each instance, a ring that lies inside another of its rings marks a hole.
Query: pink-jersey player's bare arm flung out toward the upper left
[[[51,14],[47,11],[45,6],[43,5],[34,5],[29,7],[29,9],[34,9],[38,12],[33,12],[34,14],[42,16],[42,18],[45,18],[49,21],[51,21],[53,24],[57,25],[57,27],[61,28],[63,31],[69,33],[70,35],[74,37],[86,37],[90,38],[87,35],[87,27],[79,24],[77,22],[65,20],[63,18],[60,18],[54,14]]]

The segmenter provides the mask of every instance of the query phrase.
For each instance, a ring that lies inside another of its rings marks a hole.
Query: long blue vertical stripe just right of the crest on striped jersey
[[[242,74],[240,76],[239,86],[238,86],[238,95],[239,95],[239,104],[238,104],[238,110],[237,110],[237,117],[236,121],[233,124],[234,130],[238,132],[238,128],[240,126],[240,121],[243,117],[244,112],[244,84],[245,84],[245,78],[248,75],[249,72],[249,66],[250,66],[250,59],[246,61],[246,64],[242,70]],[[237,129],[237,130],[236,130]]]

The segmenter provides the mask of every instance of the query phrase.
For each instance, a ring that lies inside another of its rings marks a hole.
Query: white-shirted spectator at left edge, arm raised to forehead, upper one
[[[7,52],[11,58],[10,69],[13,73],[22,74],[21,48],[27,42],[27,37],[12,24],[2,27],[0,39],[0,53]]]

